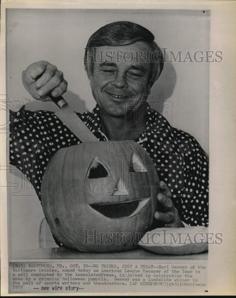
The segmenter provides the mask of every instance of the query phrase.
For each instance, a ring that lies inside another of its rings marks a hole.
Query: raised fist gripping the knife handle
[[[25,89],[37,100],[51,101],[48,93],[58,97],[67,91],[63,72],[44,60],[30,64],[22,72],[22,81]]]

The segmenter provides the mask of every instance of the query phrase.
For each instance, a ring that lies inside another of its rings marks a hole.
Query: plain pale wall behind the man
[[[7,10],[7,95],[17,97],[30,110],[58,108],[54,103],[34,100],[24,89],[21,72],[33,62],[47,60],[64,72],[68,91],[64,95],[75,111],[95,106],[84,71],[84,47],[98,28],[114,21],[132,21],[149,29],[161,48],[187,51],[209,50],[209,12],[195,10]],[[189,60],[186,60],[189,61]],[[209,63],[167,62],[151,94],[166,97],[172,126],[192,134],[208,153]],[[26,186],[20,171],[8,176],[10,245],[13,250],[38,248],[38,229],[44,217],[38,198]],[[22,182],[23,181],[23,182]],[[13,195],[14,192],[14,195]],[[18,193],[17,193],[18,192]]]

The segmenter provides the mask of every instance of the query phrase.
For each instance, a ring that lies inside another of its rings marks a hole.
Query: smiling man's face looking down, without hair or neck
[[[127,113],[127,100],[137,105],[141,96],[149,93],[151,63],[138,58],[142,52],[142,59],[147,61],[148,50],[148,45],[143,42],[98,47],[90,86],[93,97],[104,113],[122,117]]]

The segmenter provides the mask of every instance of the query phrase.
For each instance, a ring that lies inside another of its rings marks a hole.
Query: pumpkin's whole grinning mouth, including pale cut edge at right
[[[149,200],[150,198],[144,198],[122,203],[96,203],[91,204],[90,207],[108,218],[125,218],[138,214]]]

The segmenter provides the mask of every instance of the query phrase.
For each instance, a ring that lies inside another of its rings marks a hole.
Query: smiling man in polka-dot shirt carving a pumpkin
[[[162,209],[155,212],[155,219],[166,227],[207,226],[206,154],[194,137],[172,128],[146,102],[163,69],[152,33],[131,22],[108,24],[90,37],[84,64],[97,105],[91,113],[77,113],[78,117],[99,140],[134,140],[149,153],[163,180],[157,196]],[[67,90],[63,73],[47,61],[28,66],[22,80],[37,100],[47,101],[47,94],[58,97]],[[126,108],[127,101],[134,109]],[[50,158],[80,140],[53,112],[23,107],[11,117],[10,162],[27,176],[40,198]]]

